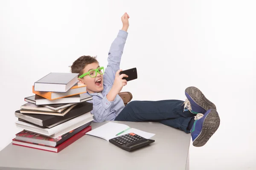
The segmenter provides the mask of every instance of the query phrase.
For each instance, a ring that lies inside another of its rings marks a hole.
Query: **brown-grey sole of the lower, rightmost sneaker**
[[[218,112],[216,110],[211,110],[204,119],[201,133],[194,140],[193,145],[195,147],[204,146],[218,129],[219,125],[220,117],[218,116]]]

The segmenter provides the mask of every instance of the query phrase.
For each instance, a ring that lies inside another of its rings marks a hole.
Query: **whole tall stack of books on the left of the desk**
[[[50,73],[32,86],[34,96],[15,111],[23,129],[12,144],[60,152],[91,130],[93,104],[78,74]]]

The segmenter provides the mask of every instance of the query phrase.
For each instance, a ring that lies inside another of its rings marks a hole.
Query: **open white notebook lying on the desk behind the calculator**
[[[105,139],[107,141],[109,141],[109,139],[112,139],[112,138],[115,138],[118,136],[122,136],[122,135],[125,135],[128,133],[135,133],[139,136],[142,136],[145,139],[149,139],[155,135],[154,133],[148,133],[148,132],[144,132],[142,130],[130,128],[129,130],[125,131],[124,133],[121,133],[118,136],[116,136],[116,134],[118,134],[119,132],[122,132],[123,130],[126,130],[128,128],[130,128],[130,127],[127,125],[124,125],[124,124],[108,122],[105,125],[102,125],[100,127],[97,127],[96,129],[93,129],[93,130],[87,132],[86,134],[92,135],[92,136],[97,136],[97,137]]]

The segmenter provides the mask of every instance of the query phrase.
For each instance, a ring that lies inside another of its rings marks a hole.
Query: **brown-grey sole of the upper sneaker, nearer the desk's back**
[[[206,111],[209,109],[217,110],[216,106],[211,101],[209,101],[198,88],[188,87],[186,88],[185,92],[189,94],[189,96],[196,104],[204,108]]]

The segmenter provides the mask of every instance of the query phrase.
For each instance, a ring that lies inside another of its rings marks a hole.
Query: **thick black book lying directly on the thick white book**
[[[76,105],[72,110],[70,110],[65,116],[52,116],[52,115],[41,115],[41,114],[22,114],[20,111],[15,112],[17,118],[26,120],[35,125],[46,127],[49,125],[62,122],[64,120],[75,118],[82,114],[88,113],[93,110],[93,104],[89,102],[82,102]]]

